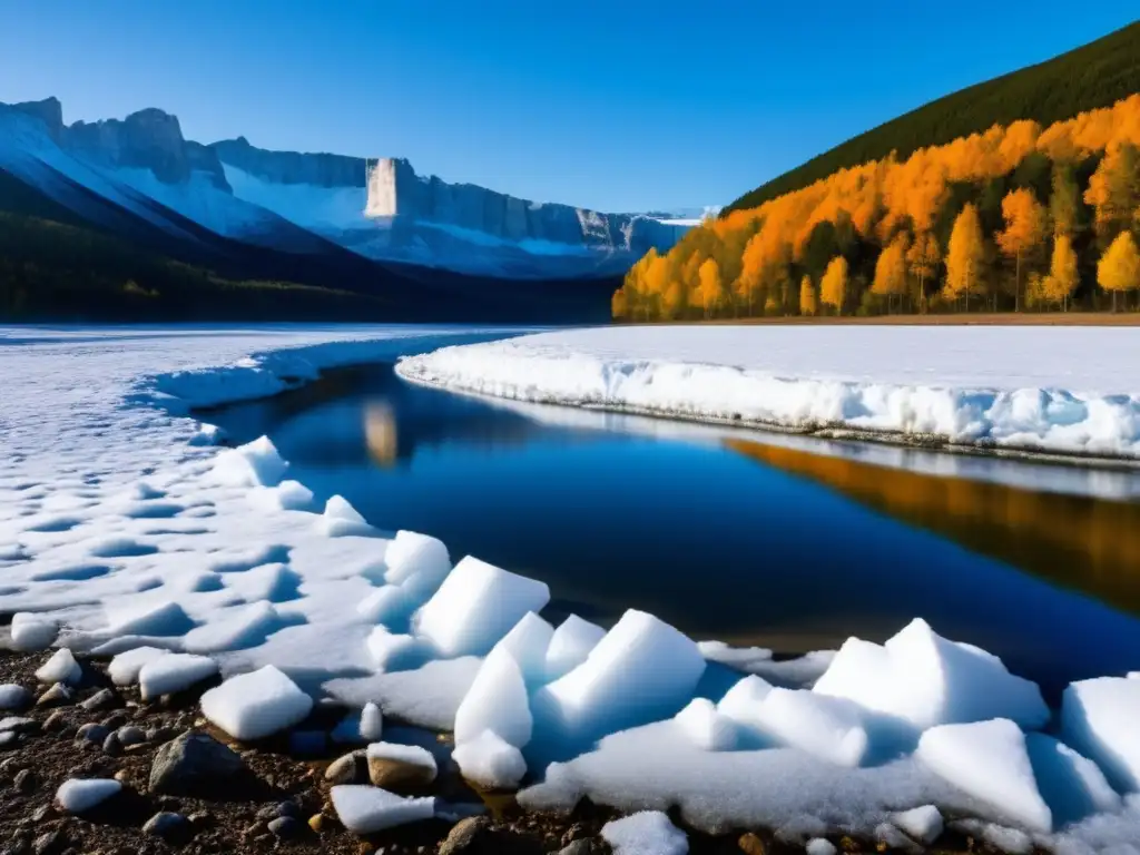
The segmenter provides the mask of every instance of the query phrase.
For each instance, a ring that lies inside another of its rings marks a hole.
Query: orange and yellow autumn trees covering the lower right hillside
[[[667,255],[641,259],[613,314],[1133,308],[1138,238],[1140,95],[1132,95],[1045,128],[995,124],[905,158],[872,160],[707,220]]]

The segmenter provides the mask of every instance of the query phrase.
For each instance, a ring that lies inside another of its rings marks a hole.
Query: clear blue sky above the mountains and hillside
[[[1135,0],[0,0],[0,101],[404,156],[605,211],[726,203]]]

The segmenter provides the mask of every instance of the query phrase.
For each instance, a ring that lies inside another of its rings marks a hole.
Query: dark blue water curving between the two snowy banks
[[[1140,583],[1127,568],[1107,587],[1084,578],[1080,535],[1054,562],[1049,544],[1025,552],[1024,526],[947,535],[883,512],[849,479],[808,478],[699,434],[656,439],[620,417],[598,430],[548,415],[413,386],[381,365],[209,421],[238,442],[267,433],[292,478],[321,500],[344,496],[381,529],[424,531],[455,560],[547,581],[554,614],[604,624],[633,606],[694,637],[785,652],[882,640],[922,616],[1047,689],[1140,668]],[[1029,557],[993,557],[1005,554]]]

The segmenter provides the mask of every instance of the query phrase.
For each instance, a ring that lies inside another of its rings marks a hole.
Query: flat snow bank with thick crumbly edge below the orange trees
[[[1138,364],[1130,328],[669,326],[446,348],[398,370],[515,400],[1135,458]]]

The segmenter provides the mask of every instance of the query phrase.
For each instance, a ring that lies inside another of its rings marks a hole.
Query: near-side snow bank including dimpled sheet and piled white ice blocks
[[[800,845],[936,837],[942,816],[970,817],[954,828],[995,845],[1061,855],[1115,855],[1140,839],[1135,678],[1076,683],[1058,714],[996,657],[922,620],[883,644],[852,638],[790,662],[698,644],[634,610],[608,629],[577,616],[555,628],[540,614],[545,584],[472,556],[453,569],[427,535],[389,539],[291,481],[269,440],[222,450],[215,429],[187,416],[454,340],[368,327],[0,331],[0,596],[14,613],[2,641],[59,646],[40,662],[51,682],[75,678],[73,649],[113,657],[113,682],[148,695],[220,674],[202,714],[243,740],[314,743],[323,733],[307,719],[325,697],[363,708],[336,727],[348,742],[383,732],[402,744],[384,717],[454,730],[463,774],[532,782],[519,793],[529,807],[676,809],[692,828],[765,826]],[[27,700],[6,690],[7,705]],[[96,789],[75,782],[67,798]],[[333,801],[361,833],[434,813],[431,799],[372,787],[335,788]],[[629,846],[683,841],[660,820],[619,829]]]

